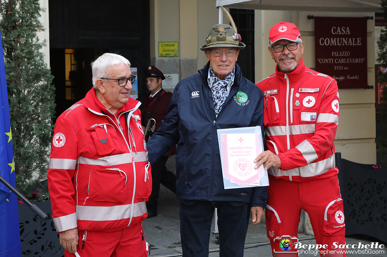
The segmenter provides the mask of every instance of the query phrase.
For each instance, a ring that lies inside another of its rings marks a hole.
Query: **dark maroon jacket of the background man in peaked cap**
[[[161,92],[161,96],[159,98],[159,101],[156,104],[156,107],[153,110],[154,103],[156,103],[157,96],[160,92]],[[144,97],[144,101],[143,101],[144,110],[141,113],[141,117],[143,119],[142,125],[144,127],[147,126],[148,120],[149,120],[149,118],[151,118],[151,112],[153,110],[152,118],[154,118],[156,120],[156,126],[154,128],[154,132],[156,132],[159,129],[159,127],[161,126],[161,121],[167,115],[168,105],[169,105],[169,102],[171,100],[172,93],[161,89],[152,98],[149,97],[150,95],[151,94],[146,95]],[[146,116],[147,113],[148,113],[148,116]],[[148,120],[145,120],[146,117],[148,117]],[[151,123],[150,128],[152,128],[152,125],[153,125],[153,123]],[[166,154],[164,154],[164,156],[173,156],[175,154],[176,154],[176,145],[174,145],[171,148],[171,150],[166,152]]]

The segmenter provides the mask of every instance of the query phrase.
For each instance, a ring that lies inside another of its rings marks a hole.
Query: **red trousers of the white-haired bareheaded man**
[[[124,229],[79,231],[78,236],[77,253],[80,257],[146,257],[149,251],[144,240],[142,222]],[[65,250],[65,257],[75,257],[75,254]]]

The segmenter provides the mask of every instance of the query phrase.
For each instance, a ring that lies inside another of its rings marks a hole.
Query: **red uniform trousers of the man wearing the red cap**
[[[270,186],[267,193],[266,230],[272,250],[274,238],[283,235],[297,237],[298,223],[300,223],[301,209],[310,218],[317,244],[327,244],[327,249],[333,249],[333,242],[345,244],[345,223],[343,214],[343,200],[340,195],[337,175],[325,179],[315,179],[303,182],[285,181],[269,175]],[[302,250],[302,249],[301,249]],[[275,253],[277,256],[298,256],[298,253]],[[321,254],[327,257],[342,257],[346,254]]]

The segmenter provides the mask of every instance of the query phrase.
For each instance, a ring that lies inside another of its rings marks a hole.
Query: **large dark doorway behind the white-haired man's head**
[[[149,1],[49,0],[50,66],[55,76],[56,117],[92,87],[90,63],[118,53],[137,68],[138,85],[150,63]],[[147,93],[139,86],[138,99]]]

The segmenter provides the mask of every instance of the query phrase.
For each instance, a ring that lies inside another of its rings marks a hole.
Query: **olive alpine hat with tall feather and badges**
[[[241,42],[241,36],[238,34],[233,18],[223,6],[221,7],[226,13],[231,25],[216,24],[212,26],[210,32],[205,38],[205,44],[200,47],[200,50],[202,51],[214,47],[236,47],[238,49],[246,47],[246,45]]]

